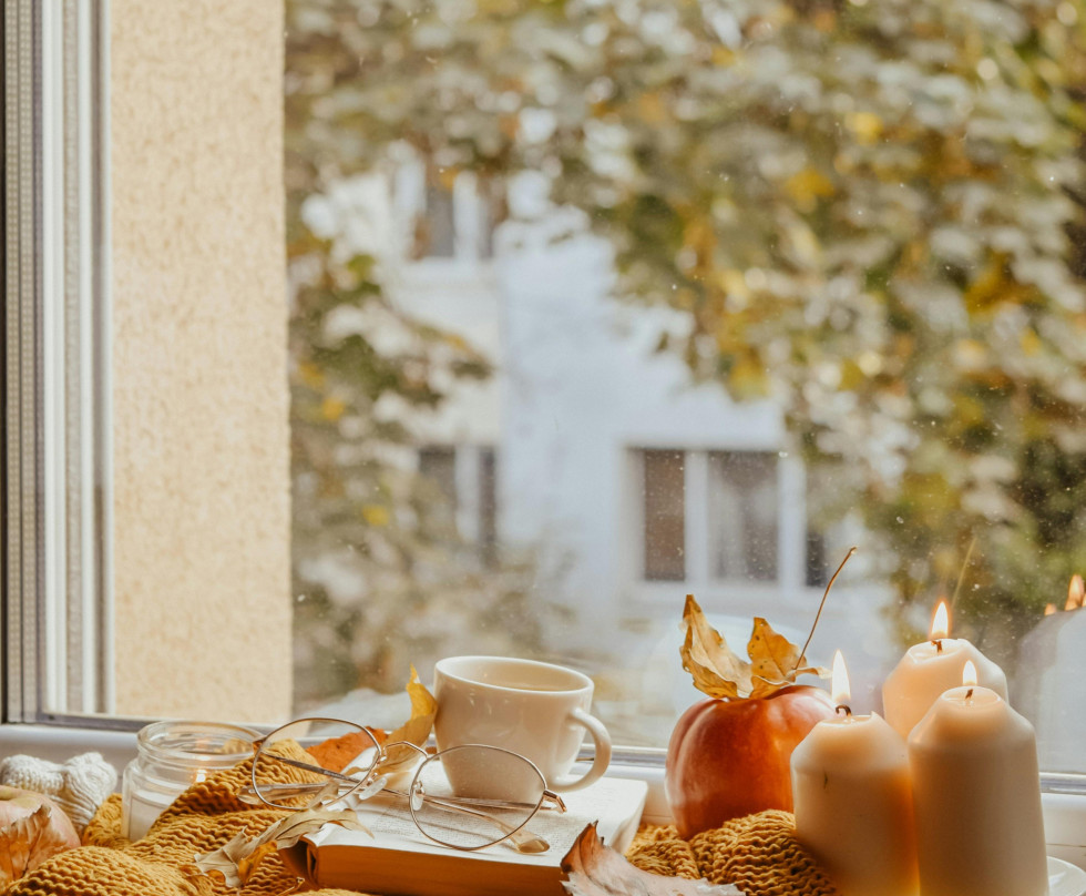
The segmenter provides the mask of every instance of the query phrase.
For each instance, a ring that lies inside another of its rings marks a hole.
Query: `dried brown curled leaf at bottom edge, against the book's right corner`
[[[631,865],[624,856],[600,839],[594,824],[588,825],[562,859],[562,870],[570,896],[614,896],[636,893],[639,896],[742,896],[730,884],[720,886],[708,880],[662,877]]]

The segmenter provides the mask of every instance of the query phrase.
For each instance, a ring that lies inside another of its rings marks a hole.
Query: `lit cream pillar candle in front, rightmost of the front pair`
[[[1036,737],[1002,695],[942,694],[909,737],[909,764],[923,896],[1048,892]]]

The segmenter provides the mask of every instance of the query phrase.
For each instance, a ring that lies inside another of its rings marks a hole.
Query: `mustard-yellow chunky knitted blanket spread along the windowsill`
[[[237,798],[249,781],[249,765],[189,787],[139,841],[121,836],[121,797],[114,794],[83,832],[82,847],[53,856],[0,896],[280,896],[303,890],[348,896],[346,890],[309,889],[278,853],[265,856],[240,889],[196,868],[197,855],[240,833],[254,837],[288,814]],[[747,896],[834,894],[783,812],[738,818],[688,843],[674,827],[644,828],[627,857],[656,874],[731,883]]]

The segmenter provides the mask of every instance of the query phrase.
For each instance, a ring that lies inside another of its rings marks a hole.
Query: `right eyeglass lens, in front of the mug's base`
[[[477,744],[428,758],[411,786],[411,814],[431,839],[459,849],[498,843],[523,827],[546,783],[523,756]]]

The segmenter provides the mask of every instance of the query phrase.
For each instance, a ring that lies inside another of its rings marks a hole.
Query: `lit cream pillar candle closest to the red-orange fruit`
[[[841,652],[833,700],[849,700]],[[842,896],[915,896],[916,851],[905,742],[879,715],[819,722],[792,752],[796,835]]]

